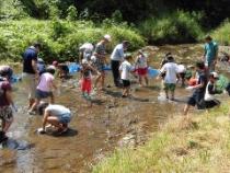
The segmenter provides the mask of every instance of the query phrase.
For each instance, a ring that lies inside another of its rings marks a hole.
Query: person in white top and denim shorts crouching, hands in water
[[[43,103],[38,106],[38,112],[41,115],[44,115],[42,132],[45,132],[47,124],[55,126],[59,134],[68,130],[68,124],[71,120],[71,112],[69,108],[62,105]]]

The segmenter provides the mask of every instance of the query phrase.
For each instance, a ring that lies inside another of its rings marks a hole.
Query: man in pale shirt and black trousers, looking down
[[[129,42],[124,41],[116,45],[111,55],[111,68],[114,77],[114,84],[120,86],[119,82],[119,65],[124,61],[124,51],[128,48]]]

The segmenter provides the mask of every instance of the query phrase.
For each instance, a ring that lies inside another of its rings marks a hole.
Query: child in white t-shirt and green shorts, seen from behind
[[[175,84],[176,84],[176,74],[177,74],[177,65],[174,62],[174,58],[172,56],[168,57],[168,62],[163,65],[160,70],[160,76],[165,72],[164,77],[164,91],[166,99],[169,99],[169,91],[171,92],[171,99],[174,100]]]

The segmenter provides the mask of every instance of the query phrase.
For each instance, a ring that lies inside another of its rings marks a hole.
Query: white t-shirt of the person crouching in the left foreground
[[[62,115],[70,115],[70,109],[58,104],[50,104],[48,107],[45,108],[53,116],[61,117]]]

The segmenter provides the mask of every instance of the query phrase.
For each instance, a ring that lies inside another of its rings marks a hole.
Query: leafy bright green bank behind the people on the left
[[[130,49],[145,45],[143,37],[125,24],[100,26],[85,21],[0,21],[0,59],[20,60],[24,49],[41,42],[43,51],[39,55],[45,60],[71,60],[78,57],[78,48],[84,42],[97,43],[104,34],[111,34],[111,48],[123,39],[131,43]]]

